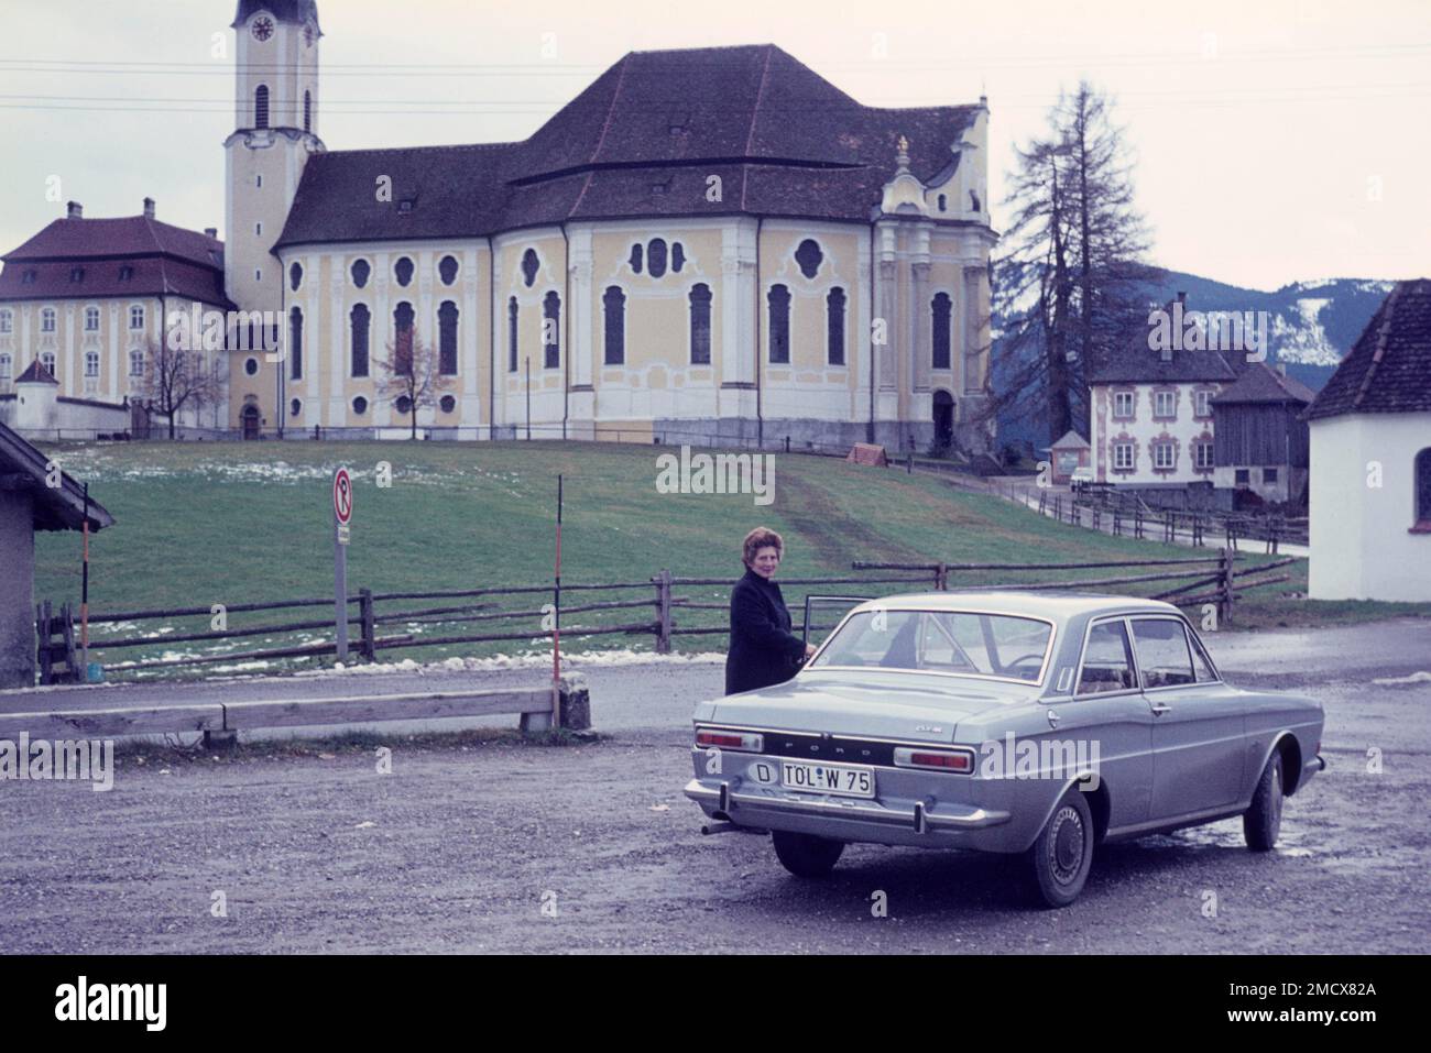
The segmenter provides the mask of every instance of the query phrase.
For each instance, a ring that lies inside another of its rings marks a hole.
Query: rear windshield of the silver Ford
[[[966,611],[861,611],[811,668],[871,667],[1037,684],[1053,627],[1035,618]]]

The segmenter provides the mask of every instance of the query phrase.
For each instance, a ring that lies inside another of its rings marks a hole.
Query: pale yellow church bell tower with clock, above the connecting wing
[[[225,140],[225,292],[242,310],[282,310],[273,243],[318,137],[316,0],[239,0],[235,130]]]

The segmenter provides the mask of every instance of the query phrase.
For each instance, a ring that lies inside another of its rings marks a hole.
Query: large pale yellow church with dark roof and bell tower
[[[222,299],[279,349],[230,332],[225,428],[990,448],[983,100],[633,52],[522,142],[329,150],[315,0],[233,30]]]

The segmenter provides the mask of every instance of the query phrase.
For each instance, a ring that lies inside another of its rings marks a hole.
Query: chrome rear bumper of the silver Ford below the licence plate
[[[1005,844],[999,827],[1009,823],[1007,811],[975,805],[914,801],[909,807],[871,800],[800,794],[751,784],[733,788],[731,781],[685,784],[685,795],[716,818],[770,830],[833,837],[877,844],[967,847],[986,851],[1017,851]]]

